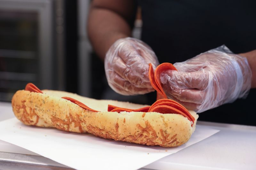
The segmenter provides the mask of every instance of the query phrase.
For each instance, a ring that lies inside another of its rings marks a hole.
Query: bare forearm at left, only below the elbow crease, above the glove
[[[109,47],[116,40],[131,36],[131,28],[115,11],[92,3],[88,18],[88,35],[94,50],[104,59]]]

